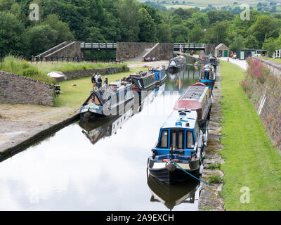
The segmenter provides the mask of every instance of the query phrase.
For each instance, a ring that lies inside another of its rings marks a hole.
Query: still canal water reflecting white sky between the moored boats
[[[146,165],[159,128],[198,76],[190,66],[168,74],[139,110],[75,122],[1,162],[0,210],[197,210],[199,181],[167,186]]]

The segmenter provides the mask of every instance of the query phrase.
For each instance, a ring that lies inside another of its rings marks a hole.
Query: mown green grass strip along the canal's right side
[[[237,65],[221,62],[223,123],[221,151],[226,210],[281,210],[281,157],[240,81]],[[240,188],[250,190],[250,203],[240,203]]]

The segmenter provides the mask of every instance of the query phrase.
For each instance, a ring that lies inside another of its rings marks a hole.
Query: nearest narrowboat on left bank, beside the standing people
[[[80,108],[81,120],[93,121],[123,115],[133,105],[131,82],[115,81],[99,90],[91,91]]]

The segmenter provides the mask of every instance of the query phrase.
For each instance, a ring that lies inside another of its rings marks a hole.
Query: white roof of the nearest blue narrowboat
[[[164,122],[164,128],[194,129],[197,121],[197,112],[194,110],[174,110]]]

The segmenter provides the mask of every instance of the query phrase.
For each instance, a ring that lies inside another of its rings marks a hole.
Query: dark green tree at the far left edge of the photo
[[[0,12],[0,56],[8,54],[22,54],[22,33],[25,27],[18,21],[15,15]]]

